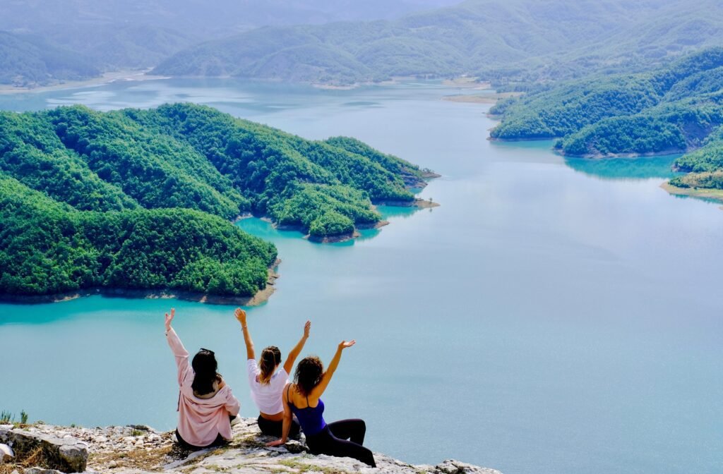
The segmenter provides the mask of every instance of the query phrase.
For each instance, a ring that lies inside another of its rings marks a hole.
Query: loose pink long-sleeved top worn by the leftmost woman
[[[183,347],[174,329],[166,332],[166,340],[176,356],[179,369],[179,425],[181,438],[189,444],[203,447],[215,441],[221,434],[231,439],[231,421],[228,415],[238,415],[241,404],[226,385],[210,398],[198,398],[193,395],[191,384],[194,371],[188,361],[188,351]]]

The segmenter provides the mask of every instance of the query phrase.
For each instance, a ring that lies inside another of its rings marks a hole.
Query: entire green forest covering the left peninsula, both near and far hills
[[[309,141],[213,108],[0,112],[0,289],[250,296],[276,250],[253,212],[323,238],[411,202],[422,171],[346,137]]]

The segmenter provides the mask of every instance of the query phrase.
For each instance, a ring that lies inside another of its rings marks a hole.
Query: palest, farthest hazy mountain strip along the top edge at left
[[[149,25],[202,38],[264,25],[393,18],[459,0],[4,0],[0,30],[56,25]]]

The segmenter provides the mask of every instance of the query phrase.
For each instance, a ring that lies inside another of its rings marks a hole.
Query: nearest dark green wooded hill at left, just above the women
[[[82,288],[174,288],[251,296],[273,245],[220,217],[184,209],[74,210],[0,176],[0,288],[43,295]]]

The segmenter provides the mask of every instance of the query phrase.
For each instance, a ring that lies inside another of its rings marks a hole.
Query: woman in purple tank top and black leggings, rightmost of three
[[[312,454],[328,454],[338,457],[353,457],[364,464],[377,467],[374,455],[364,444],[367,426],[363,420],[352,419],[326,423],[324,402],[321,396],[328,387],[334,371],[341,360],[341,352],[351,348],[356,341],[342,341],[327,371],[320,358],[304,358],[296,366],[294,383],[287,384],[283,391],[283,432],[281,439],[269,443],[280,446],[286,443],[291,428],[291,417],[296,415],[301,429],[307,437],[307,446]]]

